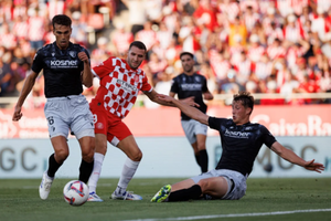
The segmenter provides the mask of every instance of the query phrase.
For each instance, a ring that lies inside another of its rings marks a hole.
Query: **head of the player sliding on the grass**
[[[235,124],[242,125],[249,122],[254,108],[254,97],[249,92],[239,92],[233,96],[232,115]]]

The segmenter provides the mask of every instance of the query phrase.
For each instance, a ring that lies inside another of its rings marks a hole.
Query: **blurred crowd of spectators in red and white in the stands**
[[[114,20],[118,8],[127,19]],[[141,69],[159,93],[169,93],[182,72],[179,54],[188,51],[215,95],[245,90],[280,95],[258,99],[261,105],[330,103],[292,97],[331,92],[330,0],[2,0],[0,96],[20,91],[35,50],[54,41],[50,21],[56,13],[73,19],[72,42],[89,49],[92,66],[125,57],[132,40],[142,41],[148,55]],[[113,30],[90,44],[87,30],[105,28],[100,13]],[[97,87],[96,81],[84,94]],[[33,93],[43,95],[42,75]]]

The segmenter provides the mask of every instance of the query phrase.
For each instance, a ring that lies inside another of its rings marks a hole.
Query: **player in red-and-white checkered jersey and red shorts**
[[[94,75],[100,78],[100,86],[89,107],[95,118],[96,150],[94,155],[94,169],[88,180],[88,201],[103,201],[96,194],[97,181],[102,172],[102,165],[107,151],[107,141],[127,155],[113,199],[141,200],[138,194],[127,191],[142,152],[139,149],[131,131],[121,120],[134,106],[139,91],[142,91],[152,102],[168,105],[159,99],[159,94],[148,83],[147,76],[139,65],[146,56],[146,45],[134,41],[128,51],[127,59],[111,56],[93,69]]]

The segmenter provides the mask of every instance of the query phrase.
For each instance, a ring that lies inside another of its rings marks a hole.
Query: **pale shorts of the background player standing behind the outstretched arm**
[[[190,144],[194,144],[196,141],[196,135],[205,135],[207,133],[207,126],[196,122],[195,119],[190,120],[181,120],[183,130],[185,133],[186,138]]]

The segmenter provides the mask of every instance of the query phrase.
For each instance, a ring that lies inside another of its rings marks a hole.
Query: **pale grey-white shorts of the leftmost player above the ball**
[[[94,137],[93,115],[84,95],[47,98],[44,112],[51,138],[67,137],[70,130],[77,139]]]

